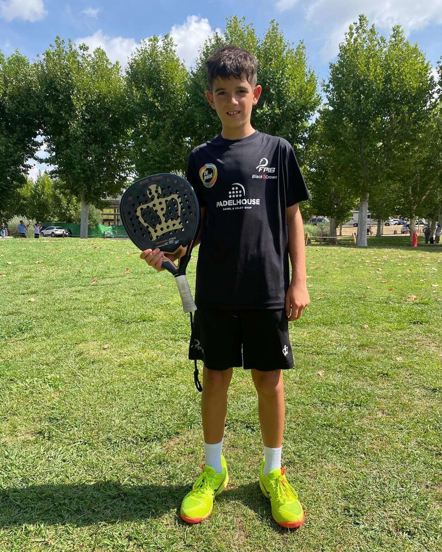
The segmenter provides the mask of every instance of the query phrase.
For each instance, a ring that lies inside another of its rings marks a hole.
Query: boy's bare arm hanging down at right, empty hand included
[[[287,207],[288,254],[292,279],[286,293],[287,320],[297,320],[310,302],[307,291],[306,246],[301,211],[297,203]]]

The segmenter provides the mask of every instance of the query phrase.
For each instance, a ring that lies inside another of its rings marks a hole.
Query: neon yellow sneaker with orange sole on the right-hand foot
[[[298,493],[288,484],[286,470],[277,468],[264,475],[264,458],[259,474],[259,486],[264,496],[270,498],[272,516],[282,527],[300,527],[305,521]]]

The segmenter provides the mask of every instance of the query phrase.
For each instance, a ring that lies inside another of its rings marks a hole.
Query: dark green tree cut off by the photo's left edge
[[[38,91],[36,67],[18,50],[7,59],[0,51],[1,213],[13,201],[14,190],[26,184],[27,160],[39,148]]]

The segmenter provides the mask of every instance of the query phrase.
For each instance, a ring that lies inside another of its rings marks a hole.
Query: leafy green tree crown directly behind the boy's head
[[[246,24],[245,18],[233,16],[227,19],[222,34],[215,33],[206,40],[188,84],[186,126],[190,146],[195,147],[219,134],[219,119],[206,100],[208,83],[204,62],[225,44],[245,48],[257,58],[262,93],[252,113],[252,124],[261,132],[288,140],[301,164],[308,123],[320,103],[317,77],[308,67],[304,44],[299,43],[294,48],[274,21],[259,39],[251,23]]]

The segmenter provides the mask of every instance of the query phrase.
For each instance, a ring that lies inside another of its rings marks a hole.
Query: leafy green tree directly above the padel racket
[[[186,168],[187,70],[169,35],[142,41],[126,72],[130,104],[130,159],[141,178],[173,167]]]

